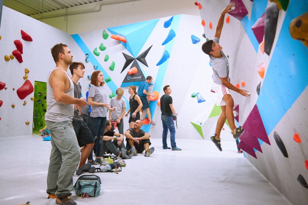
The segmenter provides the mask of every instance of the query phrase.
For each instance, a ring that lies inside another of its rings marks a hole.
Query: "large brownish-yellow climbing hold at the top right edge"
[[[293,39],[300,40],[308,48],[308,12],[294,18],[289,26],[289,32]]]

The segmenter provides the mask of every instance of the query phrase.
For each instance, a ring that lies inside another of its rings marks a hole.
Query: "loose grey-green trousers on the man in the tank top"
[[[51,134],[47,193],[61,197],[73,190],[73,175],[80,160],[79,145],[71,121],[45,122]]]

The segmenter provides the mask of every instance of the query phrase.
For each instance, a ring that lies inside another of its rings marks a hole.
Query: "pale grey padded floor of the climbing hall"
[[[98,197],[72,198],[85,204],[290,204],[242,154],[235,142],[222,141],[219,152],[211,141],[177,139],[182,151],[163,150],[127,160],[119,174],[96,173]],[[0,138],[0,204],[55,204],[47,199],[46,176],[51,144],[40,136]],[[74,175],[74,183],[78,179]]]

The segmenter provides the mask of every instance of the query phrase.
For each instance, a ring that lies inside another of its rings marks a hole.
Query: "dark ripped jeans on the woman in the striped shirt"
[[[95,155],[97,157],[100,157],[103,156],[101,153],[101,149],[103,146],[103,139],[101,137],[104,136],[107,117],[90,117],[90,118],[91,118],[91,134],[94,140],[96,138],[95,144],[93,146],[96,149]],[[93,159],[93,148],[88,156],[88,160],[92,159]]]

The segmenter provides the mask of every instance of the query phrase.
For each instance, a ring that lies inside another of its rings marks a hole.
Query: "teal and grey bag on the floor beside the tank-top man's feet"
[[[82,175],[80,176],[75,185],[74,191],[76,195],[83,195],[87,193],[89,196],[96,197],[100,192],[100,178],[97,175]]]

